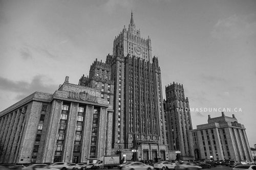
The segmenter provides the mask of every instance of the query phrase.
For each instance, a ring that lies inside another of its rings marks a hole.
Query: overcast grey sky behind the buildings
[[[256,1],[0,1],[0,111],[34,91],[53,93],[66,76],[78,84],[95,58],[112,54],[131,10],[151,37],[163,91],[182,83],[191,108],[230,108],[253,147]],[[221,115],[191,112],[193,128],[208,114]]]

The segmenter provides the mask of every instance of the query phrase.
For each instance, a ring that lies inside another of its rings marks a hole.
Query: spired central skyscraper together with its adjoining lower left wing
[[[161,70],[133,13],[113,55],[96,59],[78,85],[68,79],[0,112],[0,163],[168,159]]]

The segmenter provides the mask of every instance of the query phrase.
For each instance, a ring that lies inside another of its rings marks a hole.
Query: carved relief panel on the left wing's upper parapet
[[[80,92],[70,91],[68,98],[80,100],[80,101],[98,103],[98,97],[95,95],[91,95],[86,91],[80,91]]]

